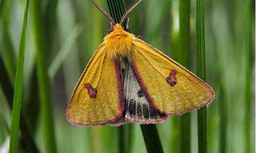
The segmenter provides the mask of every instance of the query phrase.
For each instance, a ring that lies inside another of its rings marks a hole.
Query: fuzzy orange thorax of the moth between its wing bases
[[[123,30],[120,24],[116,24],[114,31],[104,37],[104,43],[108,56],[120,60],[130,58],[134,50],[134,35]]]

